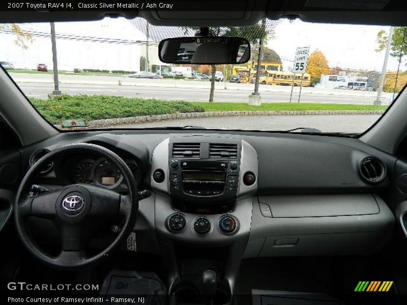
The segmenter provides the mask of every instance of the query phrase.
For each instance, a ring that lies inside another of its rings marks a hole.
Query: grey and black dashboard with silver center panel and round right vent
[[[151,192],[139,202],[135,227],[138,236],[155,240],[141,243],[146,252],[157,252],[165,240],[211,247],[241,242],[245,257],[372,253],[394,225],[388,192],[394,157],[355,138],[109,131],[53,140],[28,150],[27,159],[33,151],[35,157],[85,142],[127,163],[139,191]],[[109,160],[83,153],[55,160],[36,183],[127,189]]]

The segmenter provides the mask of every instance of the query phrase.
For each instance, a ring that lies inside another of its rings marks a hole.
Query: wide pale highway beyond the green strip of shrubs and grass
[[[155,81],[155,80],[152,80]],[[167,80],[159,80],[163,85],[168,85]],[[172,82],[172,80],[170,80]],[[180,81],[178,81],[180,82]],[[153,82],[152,82],[153,83]],[[186,82],[188,83],[188,82]],[[189,83],[192,83],[190,81]],[[23,92],[28,97],[46,99],[48,94],[53,90],[52,83],[38,83],[38,82],[18,82]],[[207,102],[209,99],[209,89],[206,87],[169,87],[159,86],[153,83],[154,86],[148,85],[114,85],[114,84],[72,84],[62,83],[60,90],[62,93],[69,95],[112,95],[136,98],[156,98],[164,100],[185,100],[191,102]],[[208,84],[206,84],[208,85]],[[215,89],[215,102],[231,102],[231,103],[247,103],[248,96],[252,92],[249,85],[229,86],[224,89],[223,84],[217,84]],[[228,84],[230,85],[230,84]],[[273,88],[271,88],[273,87]],[[260,94],[262,102],[275,103],[275,102],[288,102],[290,97],[290,88],[280,86],[260,86]],[[242,89],[241,89],[242,88]],[[298,101],[299,88],[294,88],[293,102]],[[340,90],[341,92],[325,92],[318,91],[316,88],[303,88],[301,94],[301,102],[303,103],[338,103],[338,104],[367,104],[371,105],[374,101],[375,93],[367,92],[346,92],[347,90]],[[345,92],[343,92],[345,91]],[[383,105],[389,105],[389,99],[385,97],[382,99]]]

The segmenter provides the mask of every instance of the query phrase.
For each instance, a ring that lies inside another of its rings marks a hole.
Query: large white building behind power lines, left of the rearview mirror
[[[11,62],[15,69],[36,69],[46,64],[53,69],[49,23],[20,25],[32,34],[28,49],[15,44],[16,36],[0,31],[0,60]],[[84,30],[85,29],[85,30]],[[158,42],[149,41],[142,31],[125,18],[105,18],[93,22],[55,23],[58,68],[140,71],[140,58],[148,57],[152,65],[165,65],[158,57]]]

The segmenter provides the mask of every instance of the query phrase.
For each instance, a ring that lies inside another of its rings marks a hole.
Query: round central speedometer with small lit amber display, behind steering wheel
[[[123,175],[119,168],[106,158],[95,161],[92,167],[93,182],[107,189],[118,187],[123,181]]]

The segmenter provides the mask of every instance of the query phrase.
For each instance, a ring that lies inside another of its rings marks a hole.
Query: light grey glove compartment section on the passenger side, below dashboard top
[[[373,254],[393,228],[375,194],[259,196],[245,257]]]

